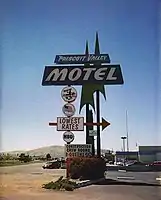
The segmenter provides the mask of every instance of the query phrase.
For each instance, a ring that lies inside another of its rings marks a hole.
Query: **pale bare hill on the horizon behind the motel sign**
[[[102,149],[102,153],[105,153],[106,150]],[[64,146],[47,146],[41,147],[29,151],[10,151],[10,152],[1,152],[1,153],[9,153],[11,155],[17,155],[21,153],[29,154],[30,156],[46,156],[46,154],[50,153],[52,157],[64,157]]]

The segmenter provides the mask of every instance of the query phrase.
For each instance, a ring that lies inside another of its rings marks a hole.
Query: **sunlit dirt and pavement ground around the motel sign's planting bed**
[[[161,187],[133,185],[91,185],[73,192],[55,192],[41,186],[65,175],[65,170],[44,170],[42,164],[1,167],[0,200],[160,200]],[[126,172],[107,173],[111,178],[134,176]],[[153,180],[156,174],[137,173],[138,179]],[[149,178],[150,177],[150,178]]]

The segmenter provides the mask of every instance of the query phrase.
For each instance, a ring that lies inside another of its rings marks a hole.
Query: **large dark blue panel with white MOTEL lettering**
[[[124,84],[120,64],[92,66],[45,66],[42,85],[122,85]]]

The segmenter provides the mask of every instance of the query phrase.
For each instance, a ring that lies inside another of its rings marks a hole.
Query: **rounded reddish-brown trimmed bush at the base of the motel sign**
[[[73,158],[70,161],[69,174],[72,179],[94,180],[104,177],[106,163],[104,159],[92,158]]]

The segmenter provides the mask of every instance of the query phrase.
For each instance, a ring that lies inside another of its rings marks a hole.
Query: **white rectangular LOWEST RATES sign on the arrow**
[[[84,117],[57,117],[57,131],[84,131]]]

